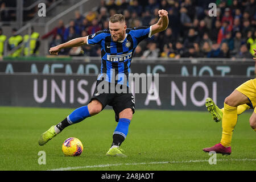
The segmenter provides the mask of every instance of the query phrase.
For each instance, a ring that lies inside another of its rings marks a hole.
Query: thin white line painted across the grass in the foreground
[[[222,161],[256,161],[256,159],[220,159],[217,162]],[[66,168],[57,168],[49,169],[49,171],[69,171],[75,169],[84,169],[84,168],[104,168],[112,166],[138,166],[138,165],[150,165],[150,164],[174,164],[174,163],[201,163],[208,162],[208,160],[182,160],[182,161],[165,161],[165,162],[150,162],[150,163],[119,163],[119,164],[99,164],[93,166],[77,166],[77,167],[66,167]]]

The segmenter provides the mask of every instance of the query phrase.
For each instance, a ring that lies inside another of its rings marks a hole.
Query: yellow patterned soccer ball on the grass
[[[82,154],[82,150],[84,150],[82,142],[74,137],[68,138],[62,144],[62,151],[66,156],[79,156]]]

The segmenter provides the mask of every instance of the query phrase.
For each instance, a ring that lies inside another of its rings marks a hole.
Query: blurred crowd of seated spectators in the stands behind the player
[[[209,16],[210,3],[216,3],[217,16]],[[137,47],[135,57],[220,57],[251,58],[256,48],[255,0],[102,0],[96,11],[85,15],[75,11],[73,19],[58,26],[41,40],[51,38],[49,47],[79,36],[108,28],[108,18],[121,13],[127,28],[149,26],[159,19],[158,10],[168,11],[166,31],[160,32]],[[1,10],[0,10],[1,12]],[[60,54],[100,56],[99,46],[63,49]]]

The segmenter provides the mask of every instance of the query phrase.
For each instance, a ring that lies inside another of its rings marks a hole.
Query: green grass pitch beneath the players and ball
[[[249,125],[252,110],[238,116],[233,133],[232,154],[217,154],[216,165],[210,165],[210,156],[202,151],[202,148],[211,147],[221,139],[221,122],[213,122],[208,111],[137,110],[121,146],[127,158],[105,156],[117,125],[113,110],[104,110],[69,126],[46,145],[39,146],[40,134],[62,121],[72,111],[0,107],[0,170],[256,169],[255,131]],[[83,143],[81,156],[64,156],[61,145],[69,137],[79,138]],[[46,152],[46,165],[38,164],[39,151]]]

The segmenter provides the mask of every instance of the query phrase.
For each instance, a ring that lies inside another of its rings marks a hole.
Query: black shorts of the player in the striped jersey
[[[135,102],[133,94],[129,93],[129,88],[127,87],[126,93],[110,93],[110,84],[108,93],[99,93],[97,86],[101,81],[97,81],[96,88],[94,90],[93,96],[90,99],[90,102],[93,100],[98,100],[102,104],[102,110],[106,105],[112,106],[115,111],[115,121],[119,121],[119,113],[122,110],[131,108],[133,114],[135,113]],[[89,103],[90,103],[89,102]]]

